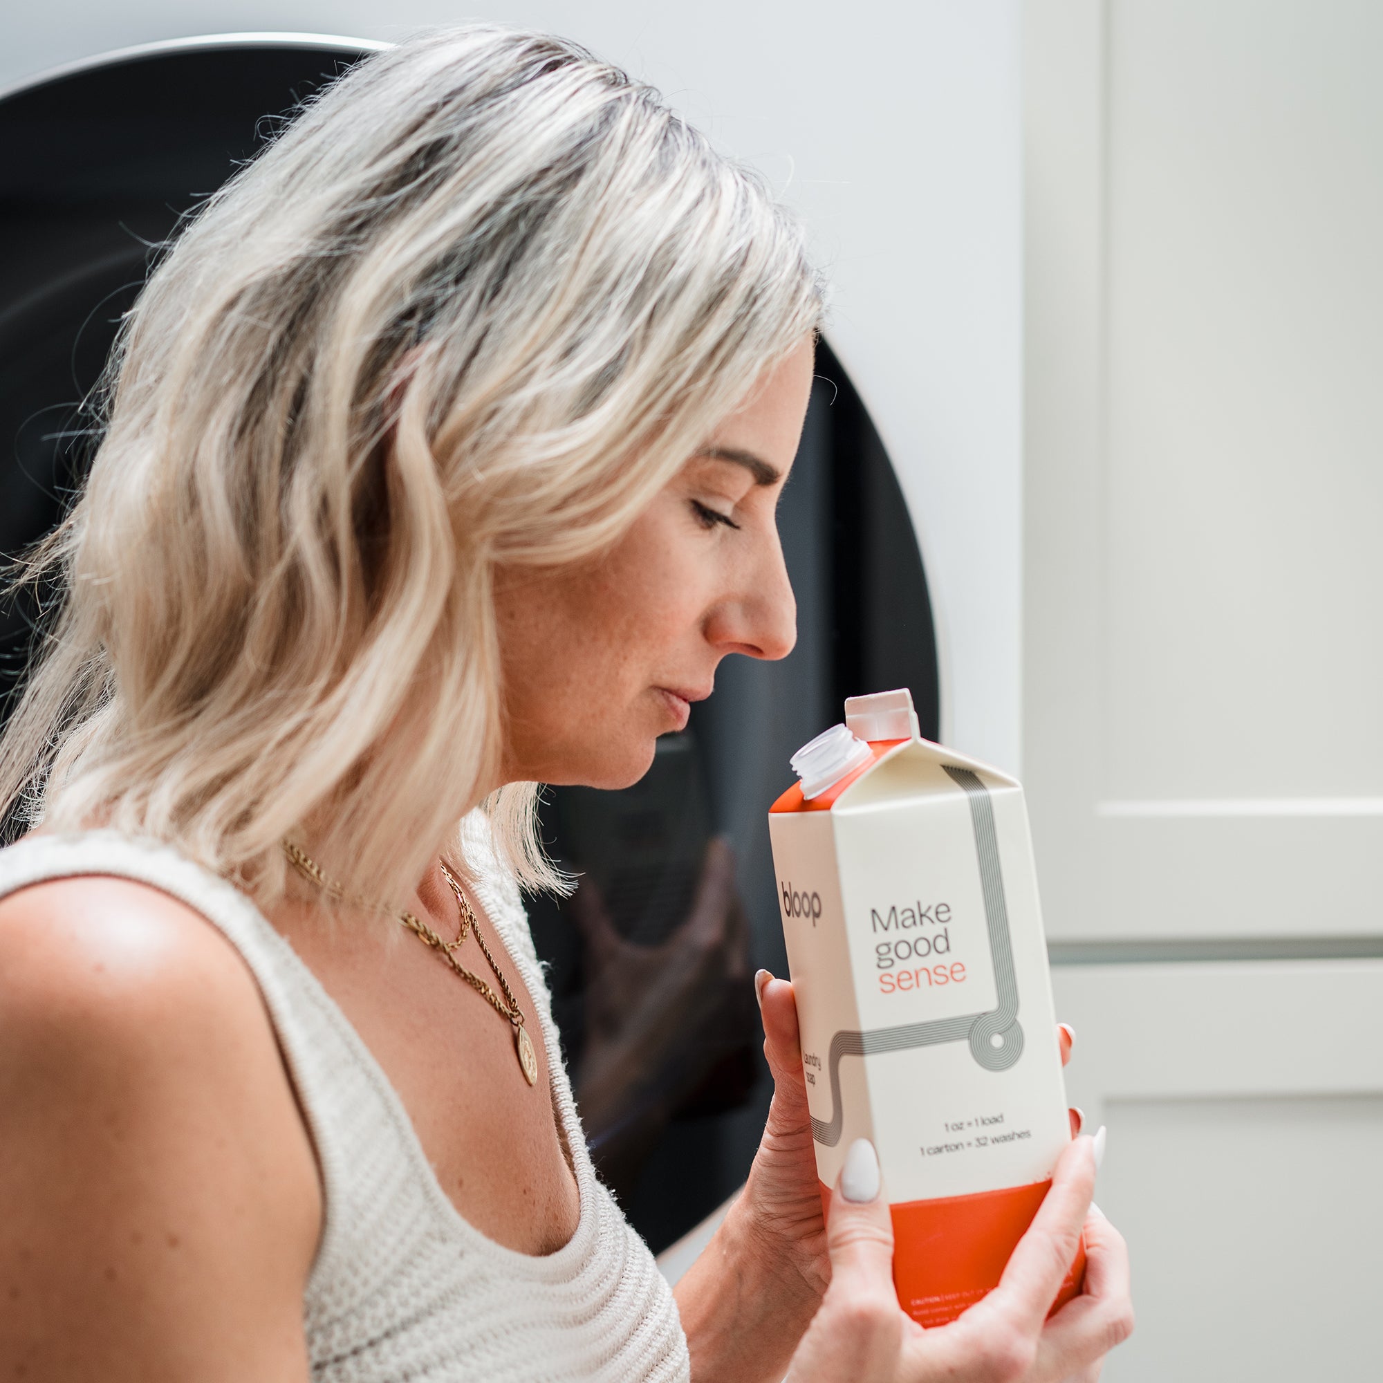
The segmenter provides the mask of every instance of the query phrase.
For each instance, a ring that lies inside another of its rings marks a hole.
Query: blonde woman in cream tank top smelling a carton
[[[1098,1372],[1130,1315],[1090,1140],[924,1333],[867,1144],[823,1229],[761,975],[773,1111],[674,1303],[553,1059],[535,784],[635,781],[725,654],[791,647],[819,315],[758,183],[492,28],[361,64],[181,235],[0,747],[7,1376]]]

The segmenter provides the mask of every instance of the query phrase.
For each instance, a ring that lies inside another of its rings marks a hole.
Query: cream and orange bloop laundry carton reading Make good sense
[[[852,697],[792,768],[769,834],[822,1195],[870,1138],[898,1299],[940,1325],[999,1283],[1070,1141],[1023,792],[921,739],[906,690]]]

